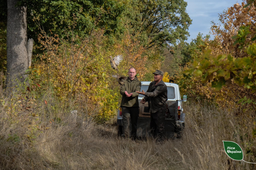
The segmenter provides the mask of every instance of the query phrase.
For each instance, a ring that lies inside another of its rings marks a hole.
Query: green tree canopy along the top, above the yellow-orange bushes
[[[186,40],[192,21],[184,0],[20,0],[18,5],[27,6],[28,37],[34,39],[39,33],[34,18],[46,33],[51,30],[61,35],[72,25],[75,16],[74,32],[79,36],[88,34],[95,23],[96,28],[104,28],[104,34],[116,35],[123,34],[125,25],[129,25],[133,34],[140,33],[148,47],[167,46]],[[1,2],[0,13],[1,22],[6,22],[6,1]]]

